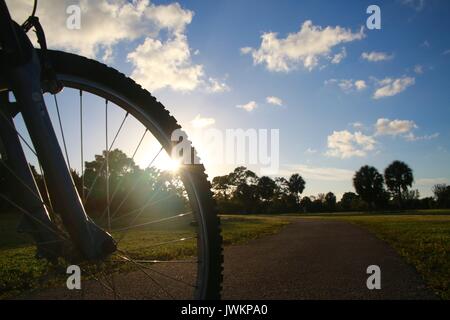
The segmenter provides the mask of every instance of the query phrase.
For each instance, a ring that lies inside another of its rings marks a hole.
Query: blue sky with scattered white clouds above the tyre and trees
[[[280,129],[279,175],[302,174],[306,195],[339,196],[353,190],[360,166],[382,171],[393,160],[413,168],[422,196],[450,182],[448,1],[109,1],[145,13],[134,20],[98,3],[41,2],[47,30],[64,21],[50,11],[83,8],[79,32],[54,35],[50,45],[137,78],[188,132],[196,117],[205,128]],[[361,29],[371,4],[381,9],[381,30]],[[119,19],[121,29],[102,33]],[[65,113],[69,126],[72,116]],[[205,164],[210,175],[233,167]]]

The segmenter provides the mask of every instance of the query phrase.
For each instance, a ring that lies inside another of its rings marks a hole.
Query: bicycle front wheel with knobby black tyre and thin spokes
[[[64,86],[45,95],[61,148],[86,212],[118,244],[101,267],[82,266],[85,297],[101,287],[101,298],[219,299],[219,218],[203,165],[170,159],[176,120],[115,69],[60,51],[47,57]],[[45,172],[36,176],[45,188]]]

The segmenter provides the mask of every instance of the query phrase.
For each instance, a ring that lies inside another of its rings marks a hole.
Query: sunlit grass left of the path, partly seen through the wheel
[[[188,218],[189,219],[189,218]],[[134,259],[172,260],[192,257],[196,253],[195,239],[152,246],[155,243],[166,243],[174,239],[190,238],[194,235],[189,227],[189,220],[183,227],[166,227],[156,230],[143,230],[127,233],[120,242],[119,248],[126,251]],[[67,263],[53,266],[44,260],[34,258],[35,248],[29,237],[15,231],[17,215],[0,215],[0,299],[18,296],[29,290],[45,287],[61,286],[65,283],[65,266]],[[223,216],[222,235],[225,245],[241,244],[251,239],[274,234],[284,225],[286,219],[260,216]],[[115,234],[117,236],[120,234]],[[117,237],[115,237],[117,239]],[[90,272],[107,271],[128,272],[132,265],[117,263],[118,258],[95,266],[81,266]]]

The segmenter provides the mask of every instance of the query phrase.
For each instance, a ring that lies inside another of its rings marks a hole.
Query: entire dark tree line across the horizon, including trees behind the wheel
[[[32,171],[44,201],[50,205],[43,176],[34,167]],[[117,216],[126,216],[140,208],[167,214],[182,211],[187,206],[186,192],[179,178],[153,167],[141,169],[119,149],[96,155],[93,161],[85,163],[83,176],[72,171],[72,177],[79,194],[84,195],[88,213],[94,218],[101,218],[106,210],[107,178],[111,194],[110,211]],[[20,192],[11,181],[14,177],[0,165],[0,194],[14,199],[14,195],[20,196]],[[213,178],[212,189],[220,213],[450,208],[450,186],[437,184],[433,187],[434,197],[420,198],[418,190],[411,189],[413,182],[412,169],[402,161],[392,162],[383,174],[366,165],[354,174],[354,191],[344,193],[338,201],[331,191],[317,196],[302,196],[306,181],[298,173],[286,178],[258,177],[255,172],[241,166],[227,175]],[[2,208],[11,209],[3,197],[0,198]]]

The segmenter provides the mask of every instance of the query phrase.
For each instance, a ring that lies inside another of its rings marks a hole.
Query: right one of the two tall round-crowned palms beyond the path
[[[408,192],[414,181],[411,168],[402,161],[394,161],[384,170],[384,181],[393,198],[402,206],[403,194]]]

